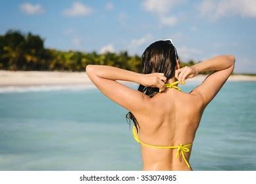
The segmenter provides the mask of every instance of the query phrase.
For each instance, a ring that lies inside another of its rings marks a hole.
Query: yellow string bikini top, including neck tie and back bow
[[[186,82],[182,82],[182,84],[184,84],[184,83],[186,83]],[[179,91],[181,91],[181,89],[177,85],[178,85],[178,81],[175,81],[174,83],[166,83],[165,87],[168,87],[168,88],[173,87],[173,88],[178,89]],[[160,89],[159,89],[159,92],[161,93]],[[148,145],[146,143],[142,143],[140,141],[140,139],[138,138],[138,135],[136,133],[136,127],[135,126],[132,129],[132,134],[134,135],[134,139],[138,143],[140,143],[141,145],[144,145],[145,147],[151,147],[151,148],[157,148],[157,149],[177,149],[175,157],[178,158],[178,156],[180,156],[180,154],[181,154],[182,158],[186,162],[186,165],[188,166],[188,168],[190,168],[190,164],[188,163],[188,160],[186,159],[186,156],[185,156],[184,152],[190,152],[190,149],[188,149],[188,147],[192,146],[193,143],[190,143],[188,145],[180,144],[179,146],[154,146],[154,145]]]

